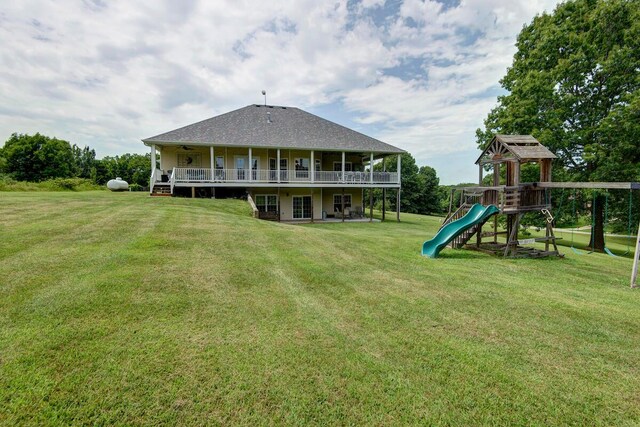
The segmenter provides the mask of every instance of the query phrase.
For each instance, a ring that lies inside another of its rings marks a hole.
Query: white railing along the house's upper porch
[[[247,185],[255,183],[317,183],[317,184],[396,184],[397,172],[334,172],[300,170],[252,170],[248,169],[211,169],[174,168],[171,174],[171,187],[177,183],[234,183]]]

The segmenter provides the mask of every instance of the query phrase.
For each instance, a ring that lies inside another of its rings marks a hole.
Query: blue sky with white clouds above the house
[[[474,182],[475,130],[555,0],[21,0],[0,7],[0,141],[97,157],[249,104],[302,108]]]

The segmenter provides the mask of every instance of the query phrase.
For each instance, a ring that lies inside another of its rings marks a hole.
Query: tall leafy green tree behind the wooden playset
[[[476,131],[480,147],[495,133],[532,134],[571,180],[638,180],[640,2],[562,3],[525,26],[516,46],[500,81],[508,94]],[[595,203],[590,245],[602,251],[604,195]]]

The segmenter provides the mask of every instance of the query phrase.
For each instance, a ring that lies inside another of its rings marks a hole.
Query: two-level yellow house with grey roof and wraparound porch
[[[152,195],[247,194],[261,218],[361,215],[365,189],[401,187],[404,150],[294,107],[249,105],[142,141]],[[397,172],[374,172],[389,156]]]

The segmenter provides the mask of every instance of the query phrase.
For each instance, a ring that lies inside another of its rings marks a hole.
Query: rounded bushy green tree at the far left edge
[[[5,142],[0,156],[4,170],[19,181],[43,181],[74,176],[74,157],[67,141],[48,136],[14,133]]]

